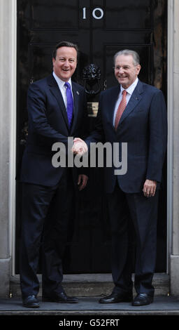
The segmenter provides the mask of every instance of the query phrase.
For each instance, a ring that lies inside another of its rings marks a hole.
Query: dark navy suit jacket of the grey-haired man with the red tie
[[[90,142],[127,143],[127,173],[115,176],[114,167],[106,167],[106,192],[113,192],[116,180],[127,193],[142,192],[146,179],[162,180],[166,153],[167,119],[162,91],[138,81],[124,110],[117,131],[113,127],[115,103],[120,86],[101,92],[95,131],[86,139]]]

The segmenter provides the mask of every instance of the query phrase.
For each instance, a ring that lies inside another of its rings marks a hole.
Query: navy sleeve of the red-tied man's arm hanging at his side
[[[146,178],[161,182],[167,145],[167,115],[162,91],[157,91],[152,98],[149,114],[149,135]]]

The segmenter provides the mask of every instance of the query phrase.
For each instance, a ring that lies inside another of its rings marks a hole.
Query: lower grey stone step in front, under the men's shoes
[[[22,324],[22,316],[38,316],[38,315],[47,315],[52,317],[57,317],[59,320],[69,320],[69,319],[82,319],[84,316],[88,316],[90,319],[95,319],[94,315],[98,315],[96,318],[99,319],[101,316],[106,315],[107,319],[118,319],[116,316],[121,315],[179,315],[179,297],[173,296],[155,296],[154,302],[150,305],[145,306],[133,306],[131,303],[114,303],[114,304],[101,304],[99,303],[99,297],[79,297],[79,303],[76,304],[64,304],[64,303],[48,303],[41,301],[39,298],[40,308],[24,308],[22,305],[21,298],[0,298],[0,317],[1,315],[20,315],[20,318],[13,318],[13,328],[15,327],[15,320],[18,322],[18,328]],[[74,316],[75,315],[75,316]],[[91,317],[90,317],[91,316]],[[8,317],[9,319],[9,317]],[[8,326],[8,319],[6,319],[6,327]],[[35,318],[36,319],[36,318]],[[43,319],[45,321],[45,327],[48,326],[48,318]],[[136,318],[135,318],[136,320]],[[24,326],[29,326],[29,322],[32,321],[33,324],[36,324],[34,318],[31,319],[24,318]],[[40,319],[40,324],[42,319]],[[52,319],[50,318],[51,322]],[[134,320],[132,320],[134,321]],[[141,320],[139,320],[138,324]],[[153,325],[152,319],[152,325]],[[50,329],[53,329],[53,323],[51,322]],[[54,324],[55,325],[55,324]],[[61,324],[62,325],[62,324]],[[74,325],[74,324],[73,324]],[[94,326],[93,324],[89,324]],[[99,325],[99,324],[96,324]],[[104,324],[103,324],[104,325]],[[109,325],[109,324],[108,324]],[[117,324],[111,324],[117,325]],[[118,324],[119,325],[119,324]],[[56,329],[56,328],[55,328]],[[83,327],[78,329],[85,329],[85,322]]]

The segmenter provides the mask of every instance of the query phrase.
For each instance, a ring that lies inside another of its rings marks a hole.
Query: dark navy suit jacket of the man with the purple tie
[[[24,183],[54,186],[59,183],[64,167],[52,166],[53,143],[64,143],[68,137],[84,138],[87,134],[85,90],[72,82],[74,113],[69,130],[66,107],[55,78],[50,76],[29,86],[27,95],[28,139],[22,157],[20,180]],[[77,171],[73,171],[77,180]]]

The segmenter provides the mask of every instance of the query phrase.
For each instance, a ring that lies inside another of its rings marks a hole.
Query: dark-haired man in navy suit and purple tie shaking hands
[[[86,122],[85,90],[71,81],[76,70],[78,48],[62,41],[52,57],[53,73],[29,86],[28,140],[22,158],[22,239],[20,284],[25,307],[38,308],[39,247],[43,242],[43,300],[76,303],[62,288],[62,256],[67,239],[74,190],[82,190],[87,176],[77,169],[52,165],[52,145],[68,137],[83,136]],[[67,84],[66,84],[67,83]],[[43,235],[42,235],[43,234]],[[43,237],[43,239],[42,239]]]

